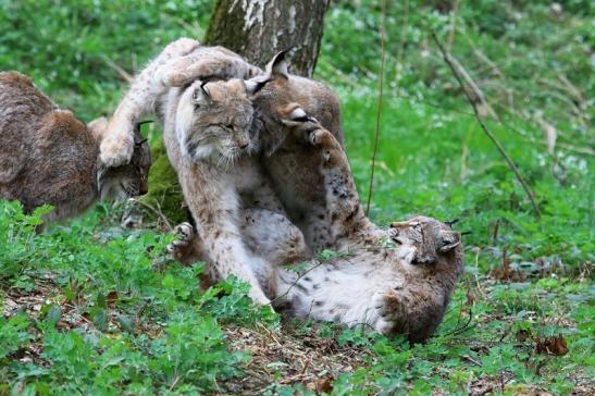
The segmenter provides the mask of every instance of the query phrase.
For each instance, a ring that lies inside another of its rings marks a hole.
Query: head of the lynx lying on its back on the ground
[[[397,244],[398,256],[408,264],[460,265],[460,260],[454,258],[461,255],[461,234],[449,223],[418,215],[391,223],[388,234]]]

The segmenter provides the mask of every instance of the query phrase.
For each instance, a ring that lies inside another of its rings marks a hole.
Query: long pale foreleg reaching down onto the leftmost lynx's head
[[[170,59],[186,55],[199,45],[198,41],[189,38],[181,38],[170,44],[135,77],[131,88],[110,119],[101,141],[100,160],[108,168],[129,162],[134,149],[135,121],[151,111],[156,99],[168,88],[161,82],[156,81],[156,71]]]

